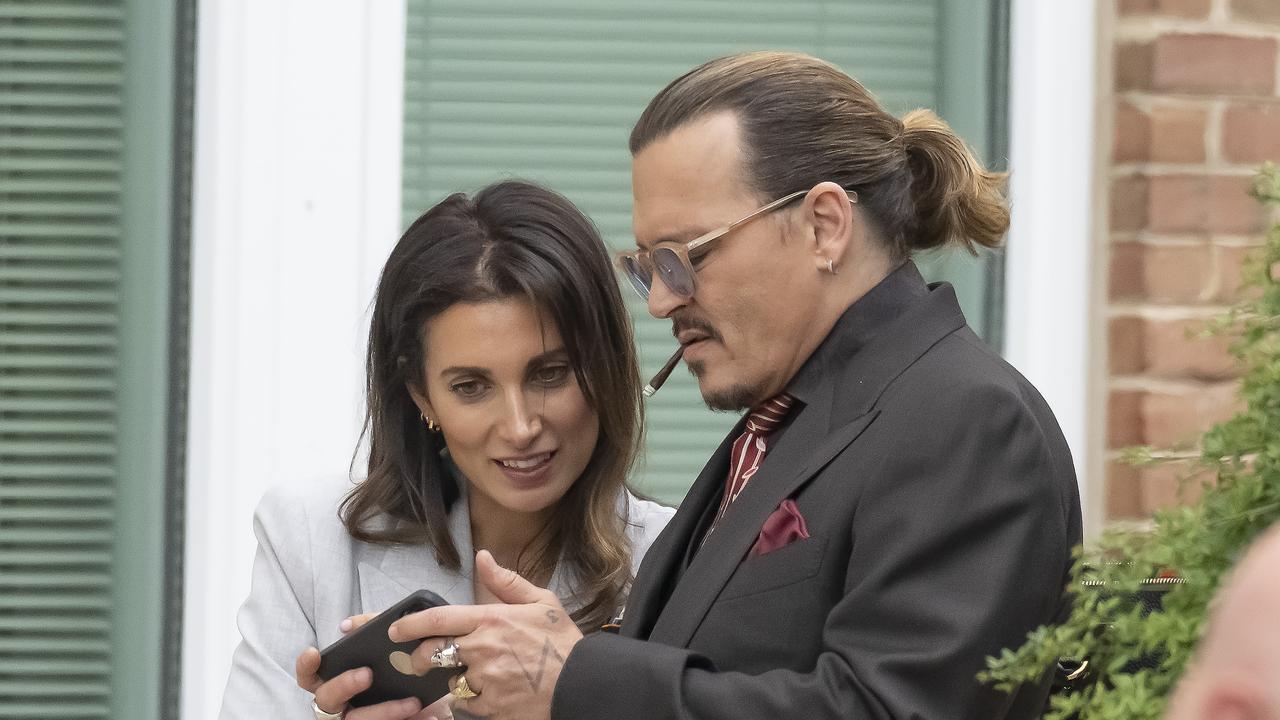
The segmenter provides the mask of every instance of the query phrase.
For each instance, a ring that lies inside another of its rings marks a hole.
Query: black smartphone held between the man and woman
[[[371,669],[374,683],[351,698],[351,705],[356,707],[406,697],[416,697],[422,701],[422,707],[426,707],[440,700],[449,694],[449,678],[466,667],[433,667],[426,675],[415,675],[410,655],[422,641],[393,643],[387,637],[387,629],[406,615],[442,605],[448,602],[431,591],[411,593],[349,635],[320,651],[317,674],[325,680],[332,680],[353,667]]]

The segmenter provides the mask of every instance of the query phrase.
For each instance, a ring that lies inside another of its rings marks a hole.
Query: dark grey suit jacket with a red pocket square
[[[1038,717],[983,659],[1066,610],[1080,503],[1044,400],[905,264],[788,384],[799,402],[705,544],[733,433],[649,550],[621,635],[567,659],[552,717]],[[795,498],[809,538],[767,555]]]

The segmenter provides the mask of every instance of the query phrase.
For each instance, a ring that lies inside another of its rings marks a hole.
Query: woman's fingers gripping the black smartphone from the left
[[[339,625],[343,634],[349,634],[369,620],[374,614],[347,618]],[[428,707],[413,697],[394,700],[347,710],[351,698],[369,689],[374,673],[369,667],[355,667],[333,678],[323,680],[320,670],[320,651],[308,647],[298,656],[294,673],[298,687],[315,696],[316,707],[325,712],[343,714],[346,720],[452,720],[448,697],[433,702]]]

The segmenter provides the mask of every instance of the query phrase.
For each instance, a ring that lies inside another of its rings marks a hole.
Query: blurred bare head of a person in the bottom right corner
[[[1268,530],[1219,593],[1169,720],[1280,719],[1280,527]]]

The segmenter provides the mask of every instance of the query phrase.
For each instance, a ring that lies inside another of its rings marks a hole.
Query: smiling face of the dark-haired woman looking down
[[[426,392],[411,393],[439,423],[472,507],[549,514],[600,432],[556,323],[524,299],[460,302],[428,322],[424,355]]]

